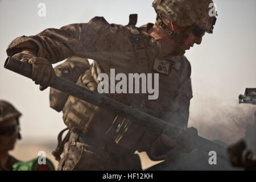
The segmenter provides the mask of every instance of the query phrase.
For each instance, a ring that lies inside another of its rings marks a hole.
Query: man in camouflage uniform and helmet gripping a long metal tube
[[[153,7],[158,14],[155,24],[138,28],[133,16],[127,26],[109,24],[104,18],[95,17],[88,23],[49,28],[35,36],[16,38],[7,48],[7,54],[32,64],[32,80],[41,85],[41,90],[55,77],[51,64],[74,55],[95,60],[76,81],[95,92],[100,82],[98,75],[110,76],[111,68],[115,69],[115,74],[125,73],[126,76],[128,73],[159,73],[157,100],[148,100],[148,94],[105,95],[186,130],[192,88],[191,65],[183,55],[187,49],[183,45],[190,36],[197,39],[193,43],[200,44],[204,32],[212,33],[215,19],[208,15],[209,3],[212,1],[155,0]],[[170,27],[174,25],[184,30],[176,31]],[[155,27],[164,30],[164,35],[168,35],[166,39],[175,43],[172,52],[163,53],[168,49],[163,46],[164,41],[154,38]],[[159,144],[166,139],[175,141],[72,96],[62,110],[63,120],[71,131],[59,170],[140,170],[136,150],[146,151],[152,160],[159,160],[156,154],[167,154],[172,149],[159,147]],[[155,152],[158,148],[160,153]]]

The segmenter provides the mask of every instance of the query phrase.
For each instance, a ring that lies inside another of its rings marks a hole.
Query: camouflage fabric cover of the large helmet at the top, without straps
[[[177,26],[199,26],[212,33],[214,16],[209,15],[212,0],[155,0],[152,3],[156,13]]]

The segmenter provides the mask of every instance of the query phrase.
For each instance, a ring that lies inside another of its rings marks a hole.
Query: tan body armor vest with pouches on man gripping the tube
[[[160,68],[154,68],[156,66],[155,60],[158,52],[155,47],[152,47],[154,42],[152,42],[150,36],[133,25],[129,25],[127,28],[132,35],[134,57],[130,61],[129,67],[122,70],[115,69],[115,72],[125,73],[125,75],[128,75],[128,73],[158,73],[155,70]],[[181,59],[179,57],[178,59],[182,60],[184,57],[181,57]],[[170,120],[176,125],[187,127],[188,120],[180,122],[179,119],[170,117],[172,113],[177,111],[177,105],[189,106],[187,102],[192,97],[190,82],[185,84],[187,87],[180,88],[180,77],[185,77],[185,75],[181,75],[184,74],[180,72],[180,68],[184,66],[182,65],[184,63],[179,60],[168,60],[170,69],[167,71],[167,74],[162,74],[159,70],[158,100],[147,100],[147,94],[106,94],[106,96],[123,104],[135,107],[145,113],[154,115],[157,118],[164,119],[167,122]],[[108,74],[108,71],[104,70],[100,64],[94,61],[90,69],[79,77],[76,84],[97,92],[97,85],[99,83],[97,75],[101,72]],[[187,99],[181,99],[180,101],[178,92],[180,90],[182,91],[182,89],[184,89],[184,95]],[[188,113],[185,113],[185,115],[188,118]],[[138,144],[144,138],[144,135],[150,131],[147,127],[134,124],[121,115],[101,109],[73,96],[68,97],[63,107],[63,120],[65,125],[72,131],[82,132],[90,137],[104,139],[109,143],[118,144],[130,150],[138,150]],[[143,148],[143,146],[141,147]]]

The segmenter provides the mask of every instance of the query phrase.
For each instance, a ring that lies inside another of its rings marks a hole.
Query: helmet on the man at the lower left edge
[[[19,118],[21,115],[9,102],[0,100],[0,123],[10,118]]]

